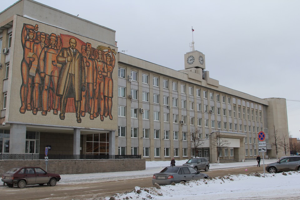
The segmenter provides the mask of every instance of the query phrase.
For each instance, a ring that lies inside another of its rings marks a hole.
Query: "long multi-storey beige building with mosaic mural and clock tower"
[[[258,155],[259,132],[267,157],[276,157],[274,132],[288,134],[285,99],[219,85],[199,51],[176,71],[118,53],[114,30],[32,0],[0,18],[0,153],[50,145],[53,154],[216,162],[219,136],[220,159],[242,161]]]

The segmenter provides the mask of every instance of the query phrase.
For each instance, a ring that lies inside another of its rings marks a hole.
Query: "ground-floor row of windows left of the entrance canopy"
[[[179,148],[173,148],[174,157],[179,157]],[[154,148],[154,157],[161,157],[160,147]],[[118,147],[118,155],[126,155],[126,147]],[[138,147],[131,148],[131,155],[138,155]],[[182,149],[183,157],[187,157],[187,148]],[[143,147],[143,157],[150,157],[150,147]],[[170,157],[170,148],[164,148],[164,157]]]

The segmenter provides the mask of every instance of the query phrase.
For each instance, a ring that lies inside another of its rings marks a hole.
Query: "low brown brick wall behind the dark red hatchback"
[[[41,167],[46,170],[44,160],[0,160],[0,175],[13,167]],[[145,159],[107,160],[49,160],[47,172],[57,174],[82,174],[145,170]]]

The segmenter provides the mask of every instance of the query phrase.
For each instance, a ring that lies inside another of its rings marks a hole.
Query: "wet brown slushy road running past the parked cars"
[[[247,168],[247,171],[245,169]],[[248,174],[263,173],[263,167],[242,167],[242,168],[225,168],[209,170],[206,173],[211,177],[225,176],[228,174]],[[266,172],[268,173],[268,172]],[[26,186],[23,189],[17,187],[0,186],[1,200],[83,200],[88,198],[99,198],[113,196],[116,192],[130,192],[134,187],[153,187],[152,176],[148,178],[133,178],[118,181],[105,182],[79,182],[69,184],[58,184],[54,187],[44,186]]]

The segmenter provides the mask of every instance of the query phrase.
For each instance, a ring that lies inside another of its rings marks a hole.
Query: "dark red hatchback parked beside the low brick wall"
[[[44,185],[45,183],[55,186],[60,179],[60,175],[47,173],[40,167],[16,167],[4,173],[1,181],[6,183],[8,187],[13,187],[16,184],[18,188],[24,188],[30,184]]]

